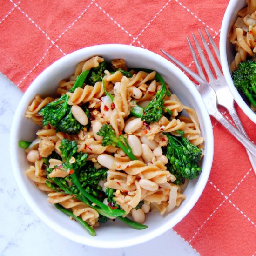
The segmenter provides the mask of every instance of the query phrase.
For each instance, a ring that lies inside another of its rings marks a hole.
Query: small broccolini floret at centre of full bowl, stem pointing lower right
[[[132,152],[130,145],[127,142],[127,138],[124,135],[116,137],[115,131],[111,125],[104,124],[97,132],[97,135],[103,137],[103,140],[101,141],[102,146],[117,146],[121,148],[131,160],[137,160]]]

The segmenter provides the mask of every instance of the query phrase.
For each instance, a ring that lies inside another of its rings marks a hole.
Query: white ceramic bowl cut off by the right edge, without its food
[[[236,103],[251,121],[256,123],[256,114],[250,108],[249,100],[238,92],[234,86],[229,65],[235,58],[235,47],[229,42],[229,32],[237,19],[237,12],[246,6],[245,0],[230,0],[222,20],[220,34],[221,65],[225,79],[229,85]]]

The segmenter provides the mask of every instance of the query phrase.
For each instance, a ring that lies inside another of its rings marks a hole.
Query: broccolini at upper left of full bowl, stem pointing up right
[[[75,88],[82,88],[88,74],[89,70],[83,71],[69,91],[73,93]],[[50,123],[58,131],[70,132],[71,134],[78,133],[81,124],[72,115],[71,106],[67,104],[68,99],[69,96],[64,94],[58,100],[48,103],[38,112],[43,117],[43,126]]]

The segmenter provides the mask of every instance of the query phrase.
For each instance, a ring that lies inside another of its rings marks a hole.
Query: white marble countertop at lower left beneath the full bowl
[[[140,245],[98,249],[68,240],[42,222],[17,187],[10,162],[9,137],[23,93],[0,73],[0,255],[1,256],[191,256],[198,253],[172,229]]]

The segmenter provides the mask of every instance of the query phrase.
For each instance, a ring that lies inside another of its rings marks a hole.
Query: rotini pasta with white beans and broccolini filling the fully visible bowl
[[[201,172],[204,139],[195,110],[160,73],[94,56],[56,93],[34,97],[25,116],[40,128],[34,141],[19,143],[26,175],[49,203],[92,236],[115,219],[144,229],[150,211],[163,215],[182,203]]]

